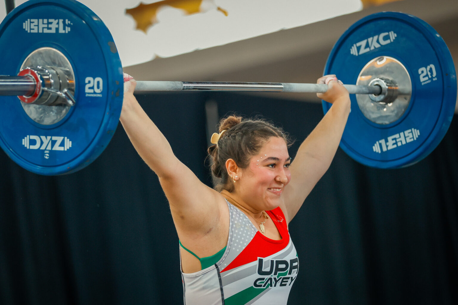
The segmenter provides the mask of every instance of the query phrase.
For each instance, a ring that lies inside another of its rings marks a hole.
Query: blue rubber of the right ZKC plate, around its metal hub
[[[324,74],[336,74],[342,82],[354,84],[365,65],[379,57],[394,58],[405,67],[412,87],[410,102],[397,120],[378,124],[363,114],[356,96],[351,95],[351,113],[340,147],[371,167],[409,166],[436,148],[452,121],[457,94],[452,56],[426,22],[382,12],[349,27],[334,45]],[[325,113],[330,107],[323,101]]]

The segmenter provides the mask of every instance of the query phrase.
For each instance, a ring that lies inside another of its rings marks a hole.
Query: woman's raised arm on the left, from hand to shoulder
[[[195,240],[208,231],[218,233],[214,226],[220,221],[222,205],[218,203],[223,197],[175,157],[167,139],[134,97],[135,86],[135,80],[124,84],[120,122],[136,151],[158,175],[180,240]]]

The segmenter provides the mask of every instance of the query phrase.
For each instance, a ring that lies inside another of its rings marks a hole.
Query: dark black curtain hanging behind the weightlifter
[[[323,116],[320,104],[230,93],[138,99],[208,185],[206,101],[220,116],[282,126],[293,157]],[[339,149],[290,223],[300,272],[288,304],[458,304],[457,159],[456,116],[405,169],[371,169]],[[0,304],[182,304],[178,249],[157,176],[120,125],[74,174],[33,174],[0,152]]]

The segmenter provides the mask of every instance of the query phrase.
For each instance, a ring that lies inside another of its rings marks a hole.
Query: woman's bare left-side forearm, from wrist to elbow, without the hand
[[[179,163],[167,139],[132,94],[124,97],[120,122],[140,157],[159,177],[167,176],[174,163]]]

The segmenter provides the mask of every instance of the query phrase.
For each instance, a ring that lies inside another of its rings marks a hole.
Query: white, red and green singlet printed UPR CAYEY
[[[299,259],[282,210],[267,211],[282,237],[271,240],[237,207],[227,205],[226,250],[210,267],[181,272],[185,305],[286,304],[299,272]]]

